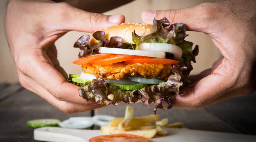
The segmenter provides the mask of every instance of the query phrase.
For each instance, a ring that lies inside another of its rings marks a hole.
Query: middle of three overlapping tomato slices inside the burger
[[[141,58],[148,58],[146,56],[136,56],[136,55],[122,55],[122,54],[114,54],[112,56],[109,56],[108,58],[97,60],[94,62],[91,62],[90,64],[114,64],[118,62],[133,60],[133,59],[141,59]]]

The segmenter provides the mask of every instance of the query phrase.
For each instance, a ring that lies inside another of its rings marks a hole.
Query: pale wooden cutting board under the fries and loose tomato
[[[256,142],[256,136],[166,128],[167,136],[152,138],[151,142]],[[103,135],[100,130],[78,130],[60,127],[42,127],[34,130],[34,139],[47,142],[88,142]]]

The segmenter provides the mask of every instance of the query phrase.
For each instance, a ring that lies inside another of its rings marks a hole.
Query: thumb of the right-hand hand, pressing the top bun
[[[146,24],[152,24],[154,18],[159,20],[166,17],[171,24],[184,23],[187,26],[187,30],[207,33],[205,29],[209,26],[207,21],[209,14],[202,5],[163,11],[146,10],[141,13],[141,19]]]

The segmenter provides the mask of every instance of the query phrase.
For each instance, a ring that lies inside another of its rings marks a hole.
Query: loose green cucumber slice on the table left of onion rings
[[[35,119],[27,121],[27,125],[29,127],[57,126],[59,122],[59,119]]]

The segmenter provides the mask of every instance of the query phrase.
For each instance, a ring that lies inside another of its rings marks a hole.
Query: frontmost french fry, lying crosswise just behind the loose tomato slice
[[[123,131],[118,130],[117,127],[111,126],[101,126],[100,130],[103,134],[133,134],[145,138],[153,138],[156,135],[156,129],[147,129],[147,130],[132,130],[132,131]]]

